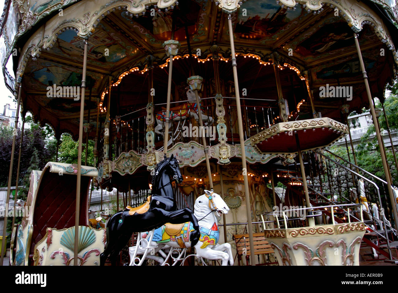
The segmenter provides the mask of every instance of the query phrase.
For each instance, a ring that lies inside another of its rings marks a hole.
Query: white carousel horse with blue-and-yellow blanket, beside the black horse
[[[221,196],[213,191],[205,190],[205,194],[196,199],[194,215],[198,219],[201,236],[195,245],[195,256],[208,260],[221,260],[222,265],[234,264],[231,245],[229,243],[217,243],[220,233],[217,227],[217,217],[213,213],[218,212],[220,216],[222,213],[227,214],[228,211],[229,208]],[[135,257],[136,255],[142,254],[146,254],[146,258],[154,259],[165,265],[173,250],[176,251],[179,248],[183,248],[183,252],[179,253],[177,260],[185,260],[187,257],[181,258],[181,255],[185,253],[186,248],[191,247],[189,242],[191,231],[193,231],[191,222],[186,222],[174,225],[166,224],[151,232],[142,233],[140,235],[142,238],[148,237],[150,240],[144,241],[144,243],[137,241],[139,245],[129,248],[130,265],[134,265],[135,261],[139,260]],[[148,248],[151,250],[150,254],[145,252]],[[164,249],[170,249],[168,256],[164,253]],[[163,258],[155,256],[156,252],[159,252]]]

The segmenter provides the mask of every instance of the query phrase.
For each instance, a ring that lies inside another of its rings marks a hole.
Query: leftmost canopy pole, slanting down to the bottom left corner
[[[1,244],[0,250],[0,265],[3,265],[4,261],[4,254],[3,251],[6,247],[6,233],[7,233],[7,220],[8,220],[8,203],[10,203],[10,193],[11,193],[11,179],[12,179],[12,167],[14,165],[14,151],[15,151],[15,141],[17,138],[17,129],[18,129],[18,117],[20,113],[20,104],[21,104],[21,92],[22,92],[22,85],[21,83],[18,86],[18,103],[17,103],[17,110],[15,114],[15,125],[14,125],[14,133],[12,138],[12,147],[11,147],[11,159],[10,159],[10,171],[8,173],[8,186],[7,186],[7,197],[6,197],[6,210],[4,216],[4,223],[3,223],[3,240]]]

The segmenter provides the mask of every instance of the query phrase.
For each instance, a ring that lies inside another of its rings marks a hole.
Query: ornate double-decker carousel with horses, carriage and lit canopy
[[[378,0],[6,1],[15,127],[30,112],[79,142],[77,164],[32,171],[11,264],[397,264],[385,153],[384,181],[327,149],[351,135],[352,111],[378,125],[397,13]],[[123,196],[103,227],[93,188]]]

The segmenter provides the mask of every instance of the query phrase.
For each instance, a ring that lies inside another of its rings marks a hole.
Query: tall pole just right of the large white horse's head
[[[239,85],[238,85],[238,71],[236,69],[236,58],[235,58],[235,46],[234,46],[234,33],[232,29],[232,18],[231,15],[228,15],[228,28],[229,28],[229,39],[231,44],[231,57],[232,57],[232,70],[234,73],[234,84],[235,84],[235,94],[236,94],[236,110],[238,111],[238,128],[239,128],[239,138],[240,138],[240,151],[242,153],[242,167],[243,167],[243,180],[245,187],[245,199],[246,199],[246,216],[248,222],[248,230],[249,230],[249,240],[250,240],[250,251],[254,251],[253,245],[253,227],[252,227],[252,216],[250,212],[250,198],[249,198],[249,183],[248,183],[248,175],[247,175],[247,166],[246,166],[246,153],[244,147],[244,139],[243,139],[243,122],[242,122],[242,110],[240,109],[240,94],[239,94]],[[250,254],[251,265],[254,265],[256,262],[256,258],[254,253]]]

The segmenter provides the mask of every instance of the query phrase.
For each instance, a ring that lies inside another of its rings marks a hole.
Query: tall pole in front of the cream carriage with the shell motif
[[[77,183],[76,183],[76,212],[75,212],[75,239],[73,265],[78,265],[78,244],[79,244],[79,218],[80,218],[80,182],[82,177],[82,145],[83,145],[83,120],[84,120],[84,94],[86,92],[86,68],[87,68],[87,47],[88,42],[84,40],[83,74],[82,74],[82,95],[80,97],[80,123],[79,123],[79,148],[77,157]]]

